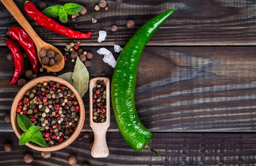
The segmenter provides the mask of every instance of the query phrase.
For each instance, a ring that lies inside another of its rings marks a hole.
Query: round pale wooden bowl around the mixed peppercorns
[[[67,145],[70,145],[77,138],[77,136],[79,136],[79,133],[81,132],[81,129],[83,128],[83,122],[84,122],[84,119],[86,116],[84,105],[83,105],[83,100],[82,100],[81,96],[79,95],[79,93],[77,92],[77,90],[74,89],[74,86],[72,86],[72,84],[70,84],[69,82],[67,82],[59,77],[53,77],[53,76],[38,77],[38,78],[28,82],[27,84],[25,84],[22,87],[22,89],[19,90],[15,99],[13,100],[13,105],[12,105],[12,108],[10,111],[10,120],[12,122],[13,130],[15,131],[18,138],[20,138],[20,136],[22,135],[22,131],[19,128],[19,125],[17,123],[17,111],[16,110],[18,107],[19,100],[21,100],[23,98],[23,96],[25,95],[25,92],[29,89],[32,89],[33,86],[36,86],[38,83],[50,82],[50,81],[58,82],[60,84],[67,86],[74,93],[75,97],[77,98],[77,102],[79,102],[79,107],[80,107],[79,117],[80,118],[79,118],[79,121],[77,122],[77,127],[75,127],[74,133],[72,133],[70,138],[61,142],[58,145],[53,145],[51,147],[42,147],[33,142],[26,143],[26,145],[28,147],[31,147],[32,149],[35,149],[38,151],[57,151],[59,149],[63,149],[64,147],[67,147]]]

